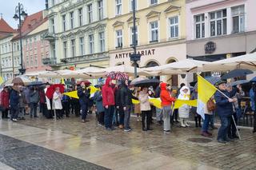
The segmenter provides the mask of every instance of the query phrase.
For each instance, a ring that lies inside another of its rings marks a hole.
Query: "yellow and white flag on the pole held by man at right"
[[[206,107],[207,101],[209,101],[210,97],[214,95],[217,91],[214,85],[210,84],[209,81],[206,81],[203,77],[198,75],[198,108],[197,113],[205,119],[204,108]]]

